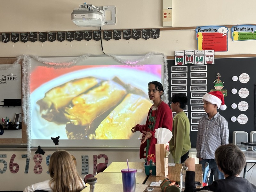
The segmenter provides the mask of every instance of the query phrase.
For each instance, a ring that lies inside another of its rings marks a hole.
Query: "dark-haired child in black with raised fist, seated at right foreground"
[[[195,159],[190,157],[185,161],[186,172],[185,192],[211,190],[218,192],[256,192],[256,187],[247,179],[239,177],[245,166],[244,153],[234,144],[221,145],[215,151],[218,168],[223,172],[225,179],[215,180],[212,184],[196,189],[195,186]]]

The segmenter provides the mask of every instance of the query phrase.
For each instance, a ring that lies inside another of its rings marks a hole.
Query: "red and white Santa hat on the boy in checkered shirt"
[[[212,104],[216,104],[217,108],[220,110],[225,110],[227,108],[224,102],[224,96],[220,91],[212,91],[212,92],[206,93],[202,98],[202,100],[208,101],[209,103],[212,103]]]

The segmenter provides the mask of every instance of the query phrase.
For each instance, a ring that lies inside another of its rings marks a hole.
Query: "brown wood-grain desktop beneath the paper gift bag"
[[[175,180],[175,181],[180,181],[180,170],[181,170],[182,164],[175,164],[174,166],[169,166],[168,167],[168,178],[169,180]],[[202,171],[202,165],[201,164],[196,164],[196,170],[195,170],[195,181],[199,181],[200,183],[203,183],[203,171]],[[150,183],[153,182],[158,182],[159,180],[164,180],[165,177],[156,177],[153,175],[149,175],[146,185],[150,185]],[[160,187],[155,187],[154,192],[161,192]]]

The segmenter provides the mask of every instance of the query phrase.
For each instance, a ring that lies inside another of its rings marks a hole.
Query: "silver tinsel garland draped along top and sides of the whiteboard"
[[[148,58],[150,58],[153,55],[158,55],[161,53],[156,53],[156,52],[149,52],[145,56],[142,56],[140,59],[135,59],[135,60],[125,60],[125,59],[120,59],[115,55],[107,55],[109,57],[112,57],[114,60],[117,62],[124,64],[124,65],[129,65],[132,67],[138,67],[138,66],[143,66],[140,65],[140,63]],[[70,61],[66,62],[61,62],[61,63],[56,63],[55,61],[50,61],[46,60],[44,58],[35,56],[35,55],[22,55],[18,56],[17,60],[11,64],[10,66],[1,66],[0,65],[0,71],[1,70],[8,70],[15,68],[20,61],[22,60],[22,66],[21,66],[21,73],[22,73],[22,121],[24,124],[27,126],[27,153],[29,158],[31,158],[31,111],[30,111],[30,67],[31,67],[31,58],[37,60],[38,62],[44,63],[46,67],[53,67],[53,68],[67,68],[76,65],[77,63],[80,63],[84,60],[86,60],[88,57],[93,56],[91,54],[84,54],[80,57],[77,57],[76,59],[72,59]],[[166,103],[169,102],[169,94],[168,94],[168,89],[169,89],[169,84],[168,84],[168,68],[167,68],[167,58],[164,57],[164,89],[165,89],[165,96],[164,96],[164,101]]]

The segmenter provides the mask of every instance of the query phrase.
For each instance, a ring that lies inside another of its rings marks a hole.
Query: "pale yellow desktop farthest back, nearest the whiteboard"
[[[145,162],[129,162],[130,169],[137,169],[137,173],[145,173]],[[121,172],[121,169],[127,169],[127,162],[112,162],[103,172]]]

